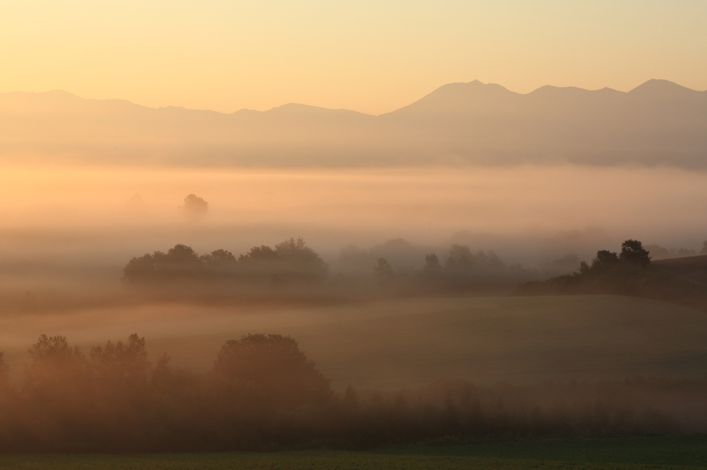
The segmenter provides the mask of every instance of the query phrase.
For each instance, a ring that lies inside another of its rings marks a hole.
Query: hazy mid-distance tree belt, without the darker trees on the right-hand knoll
[[[406,248],[407,244],[396,239],[386,245]],[[537,277],[535,270],[503,263],[493,251],[472,253],[468,246],[458,244],[451,246],[443,260],[435,253],[415,253],[415,258],[424,260],[419,269],[394,265],[385,257],[371,258],[370,254],[342,251],[337,275],[329,277],[329,265],[303,239],[291,238],[274,248],[254,246],[238,258],[223,249],[199,255],[189,246],[176,245],[166,253],[155,251],[132,258],[122,279],[128,286],[158,296],[291,301],[499,293]],[[354,265],[363,270],[351,269]]]

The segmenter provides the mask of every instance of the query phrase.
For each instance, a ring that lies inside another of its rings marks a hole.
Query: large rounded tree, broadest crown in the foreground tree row
[[[329,380],[315,368],[297,342],[281,335],[230,339],[214,362],[218,382],[253,403],[294,408],[329,399]]]

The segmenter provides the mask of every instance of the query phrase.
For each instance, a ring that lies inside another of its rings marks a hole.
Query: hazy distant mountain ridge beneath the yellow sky
[[[0,159],[178,165],[666,164],[707,167],[707,92],[449,83],[372,116],[284,104],[232,114],[0,93]]]

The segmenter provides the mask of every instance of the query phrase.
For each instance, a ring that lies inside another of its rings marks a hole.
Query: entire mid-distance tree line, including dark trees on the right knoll
[[[356,253],[348,257],[355,259]],[[360,255],[358,255],[360,256]],[[288,239],[274,248],[254,246],[236,258],[220,249],[199,255],[177,245],[132,258],[123,281],[167,296],[219,296],[261,300],[336,300],[361,296],[434,294],[615,294],[638,296],[707,309],[707,288],[659,269],[641,241],[629,239],[619,253],[597,251],[568,275],[540,281],[537,270],[507,265],[493,251],[473,253],[454,244],[443,260],[424,255],[419,269],[394,266],[387,258],[363,256],[368,275],[329,276],[329,265],[303,239]],[[351,260],[349,260],[351,261]],[[370,279],[370,280],[369,280]],[[275,289],[273,289],[275,288]]]

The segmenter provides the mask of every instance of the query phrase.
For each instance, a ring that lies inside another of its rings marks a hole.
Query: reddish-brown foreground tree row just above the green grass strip
[[[247,335],[205,373],[149,361],[144,338],[85,355],[42,335],[13,387],[0,354],[0,450],[121,452],[365,448],[435,439],[570,437],[707,430],[707,380],[478,387],[435,382],[381,394],[329,380],[297,342]],[[680,420],[672,418],[675,414]]]

